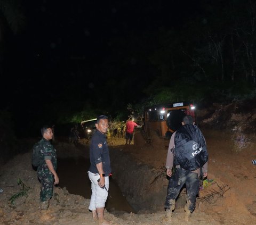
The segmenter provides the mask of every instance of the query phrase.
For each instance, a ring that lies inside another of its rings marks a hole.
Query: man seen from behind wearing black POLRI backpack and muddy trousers
[[[187,189],[185,219],[189,219],[195,209],[199,177],[207,177],[208,153],[204,136],[195,126],[192,116],[185,115],[182,125],[171,136],[165,165],[166,174],[170,177],[165,200],[166,217],[169,220],[175,209],[175,200],[184,184]]]

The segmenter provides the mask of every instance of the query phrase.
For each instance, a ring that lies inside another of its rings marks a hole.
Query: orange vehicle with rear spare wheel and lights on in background
[[[146,107],[144,111],[145,133],[150,139],[151,132],[160,137],[170,138],[174,131],[182,126],[183,116],[191,115],[195,119],[195,106],[188,102],[178,102]]]

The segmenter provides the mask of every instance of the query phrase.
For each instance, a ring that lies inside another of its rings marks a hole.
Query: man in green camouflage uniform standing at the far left
[[[39,166],[37,168],[37,176],[41,182],[41,210],[47,210],[49,201],[52,197],[53,186],[59,184],[57,175],[57,154],[56,149],[52,146],[50,140],[53,137],[52,128],[44,126],[41,129],[42,139],[39,141]]]

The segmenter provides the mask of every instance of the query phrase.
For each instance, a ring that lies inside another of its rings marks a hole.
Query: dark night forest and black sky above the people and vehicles
[[[0,1],[3,114],[18,135],[128,108],[255,96],[253,1]],[[49,113],[50,111],[50,113]]]

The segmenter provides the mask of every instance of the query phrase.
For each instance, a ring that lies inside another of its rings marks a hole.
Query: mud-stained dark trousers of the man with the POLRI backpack
[[[167,188],[167,196],[165,199],[165,209],[174,209],[175,199],[180,194],[183,185],[186,184],[187,189],[187,205],[185,206],[190,212],[193,212],[196,206],[196,196],[199,191],[198,174],[189,170],[177,168],[173,176],[169,180]]]

